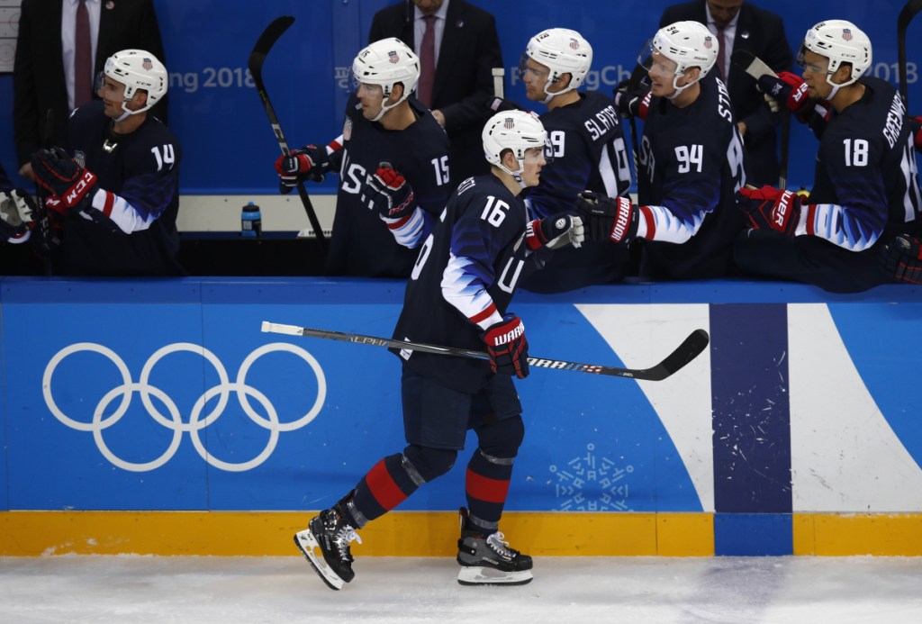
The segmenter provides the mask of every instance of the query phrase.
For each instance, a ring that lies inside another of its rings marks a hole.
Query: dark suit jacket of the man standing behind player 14
[[[153,1],[117,0],[112,8],[106,4],[103,0],[100,7],[94,75],[102,71],[112,54],[132,48],[147,50],[166,64]],[[13,136],[19,165],[39,147],[47,147],[42,137],[49,109],[54,112],[51,142],[63,146],[67,137],[70,111],[61,47],[61,6],[62,0],[22,0],[13,65]],[[165,122],[166,99],[151,112]]]

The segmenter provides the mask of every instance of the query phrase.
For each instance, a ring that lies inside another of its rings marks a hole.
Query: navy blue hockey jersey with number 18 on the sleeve
[[[810,206],[796,232],[852,252],[915,230],[922,204],[903,100],[880,78],[858,82],[862,98],[822,128]]]

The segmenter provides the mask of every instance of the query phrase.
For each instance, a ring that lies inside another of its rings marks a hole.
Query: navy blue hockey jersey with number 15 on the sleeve
[[[407,277],[416,250],[397,243],[391,231],[361,201],[361,187],[382,162],[400,171],[413,188],[418,205],[433,216],[452,192],[448,136],[420,102],[408,100],[417,116],[404,130],[387,130],[361,114],[353,93],[346,105],[342,164],[333,237],[326,259],[327,275]]]

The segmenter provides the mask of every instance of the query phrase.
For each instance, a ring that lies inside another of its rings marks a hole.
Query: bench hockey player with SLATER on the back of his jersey
[[[519,75],[528,100],[548,112],[541,124],[548,131],[550,159],[541,183],[529,189],[526,203],[538,217],[572,208],[581,191],[627,196],[631,168],[614,102],[597,91],[578,92],[592,65],[592,46],[570,29],[548,29],[528,41]],[[548,254],[544,268],[526,277],[523,288],[561,292],[603,284],[619,277],[628,262],[625,246],[587,242],[581,249]]]

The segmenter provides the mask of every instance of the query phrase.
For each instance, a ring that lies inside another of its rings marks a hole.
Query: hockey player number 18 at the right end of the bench
[[[781,74],[760,85],[812,122],[820,139],[813,188],[806,198],[768,186],[743,189],[751,230],[736,243],[737,263],[834,292],[890,282],[879,266],[881,248],[917,227],[920,206],[903,100],[890,83],[866,75],[871,43],[851,22],[809,29],[798,65],[803,79]]]

